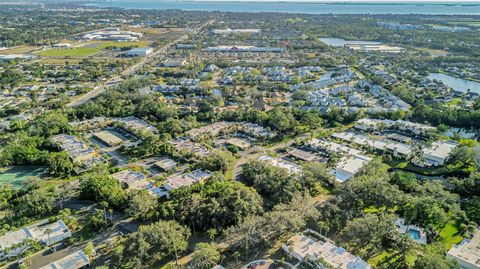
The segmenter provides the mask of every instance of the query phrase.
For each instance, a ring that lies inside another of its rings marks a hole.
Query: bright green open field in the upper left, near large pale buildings
[[[37,55],[42,57],[88,57],[95,55],[99,51],[108,47],[146,47],[149,41],[139,42],[114,42],[114,41],[93,41],[85,42],[81,47],[68,49],[48,49],[38,52]]]

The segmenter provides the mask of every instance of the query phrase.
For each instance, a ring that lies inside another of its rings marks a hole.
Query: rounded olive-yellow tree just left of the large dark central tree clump
[[[128,193],[127,209],[125,211],[137,220],[147,220],[153,216],[157,205],[157,198],[147,190],[133,190]]]

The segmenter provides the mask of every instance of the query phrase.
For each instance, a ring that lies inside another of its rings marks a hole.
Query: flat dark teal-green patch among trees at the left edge
[[[21,188],[22,182],[29,177],[44,177],[45,166],[10,166],[0,168],[0,185],[9,183],[14,188]]]

